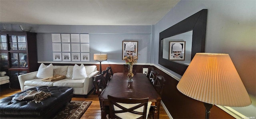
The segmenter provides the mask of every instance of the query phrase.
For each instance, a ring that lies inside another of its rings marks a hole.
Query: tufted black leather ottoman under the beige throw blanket
[[[48,97],[41,103],[31,102],[31,100],[17,101],[17,97],[20,93],[16,93],[12,96],[5,97],[0,100],[0,118],[52,118],[56,112],[63,107],[68,101],[71,101],[73,97],[72,87],[57,87],[57,86],[38,86],[28,90],[44,91],[52,93],[51,97]],[[27,104],[28,103],[28,104]]]

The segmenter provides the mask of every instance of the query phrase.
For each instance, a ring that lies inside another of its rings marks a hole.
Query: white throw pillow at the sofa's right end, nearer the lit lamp
[[[85,79],[87,77],[84,64],[78,66],[77,64],[73,67],[72,79]]]

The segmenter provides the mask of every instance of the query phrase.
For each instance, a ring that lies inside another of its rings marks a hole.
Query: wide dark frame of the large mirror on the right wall
[[[205,37],[206,37],[206,21],[207,21],[207,9],[200,10],[192,16],[182,20],[181,22],[171,26],[170,28],[159,33],[159,56],[158,63],[179,75],[183,75],[188,65],[170,61],[163,58],[163,42],[164,38],[182,34],[193,30],[192,35],[192,51],[191,60],[198,52],[204,52]]]

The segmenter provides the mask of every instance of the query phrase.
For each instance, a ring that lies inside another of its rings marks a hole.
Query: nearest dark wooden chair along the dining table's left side
[[[98,93],[98,96],[100,96],[101,92],[106,88],[107,84],[104,79],[103,74],[99,74],[96,77],[94,77],[93,85],[96,89],[96,92]]]

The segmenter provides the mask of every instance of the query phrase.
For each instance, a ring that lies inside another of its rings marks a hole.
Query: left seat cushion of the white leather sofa
[[[53,83],[56,81],[42,81],[42,79],[32,79],[32,80],[27,80],[24,82],[24,85],[27,86],[53,86]]]

